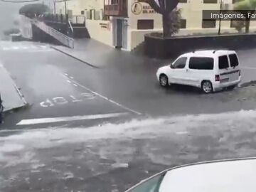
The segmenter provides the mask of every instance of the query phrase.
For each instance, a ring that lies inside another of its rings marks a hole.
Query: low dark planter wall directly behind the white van
[[[198,49],[255,48],[256,34],[186,36],[158,38],[145,36],[145,54],[151,58],[176,58],[182,53]]]

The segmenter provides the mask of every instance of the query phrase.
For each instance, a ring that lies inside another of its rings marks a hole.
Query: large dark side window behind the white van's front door
[[[194,70],[213,70],[213,58],[192,57],[189,60],[189,68]]]

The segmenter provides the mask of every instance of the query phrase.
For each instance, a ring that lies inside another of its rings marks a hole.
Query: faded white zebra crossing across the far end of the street
[[[53,50],[47,45],[36,45],[27,43],[0,43],[0,50],[28,50],[28,51],[50,51]]]

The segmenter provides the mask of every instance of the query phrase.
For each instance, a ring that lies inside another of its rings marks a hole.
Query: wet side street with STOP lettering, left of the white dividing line
[[[125,117],[133,111],[98,92],[90,90],[70,75],[78,70],[84,81],[91,82],[95,69],[73,58],[66,57],[50,47],[36,43],[6,43],[2,46],[1,62],[21,87],[29,107],[7,115],[2,127],[38,128],[75,123],[88,127],[112,117]],[[16,55],[15,57],[13,55]],[[78,122],[78,123],[76,123]],[[18,129],[19,129],[18,128]]]

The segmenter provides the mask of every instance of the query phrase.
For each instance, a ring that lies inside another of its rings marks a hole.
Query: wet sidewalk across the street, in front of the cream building
[[[125,50],[118,50],[88,38],[75,40],[74,49],[64,46],[52,46],[52,48],[80,60],[93,68],[124,67],[130,65],[149,68],[149,65],[159,66],[159,64],[163,64],[164,62],[163,60],[146,58],[143,55]]]

